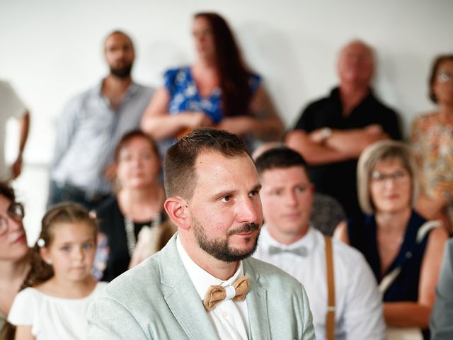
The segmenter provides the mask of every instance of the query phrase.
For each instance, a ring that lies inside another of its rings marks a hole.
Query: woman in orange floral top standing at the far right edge
[[[422,191],[418,211],[442,219],[453,233],[453,55],[440,55],[432,64],[430,99],[437,110],[416,118],[412,145],[420,168]]]

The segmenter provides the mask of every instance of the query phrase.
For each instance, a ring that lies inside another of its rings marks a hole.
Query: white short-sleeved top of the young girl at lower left
[[[15,326],[31,326],[36,340],[86,340],[88,305],[107,285],[99,282],[90,295],[81,299],[64,299],[25,288],[16,295],[8,322]]]

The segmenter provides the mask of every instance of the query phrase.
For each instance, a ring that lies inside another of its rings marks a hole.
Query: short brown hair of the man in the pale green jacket
[[[226,158],[250,157],[246,143],[230,132],[212,128],[193,130],[166,153],[164,187],[167,197],[192,198],[197,185],[195,161],[202,152],[219,152]]]

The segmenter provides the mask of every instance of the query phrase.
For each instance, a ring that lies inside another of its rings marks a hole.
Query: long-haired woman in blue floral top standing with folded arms
[[[193,128],[216,127],[239,137],[277,140],[283,124],[261,78],[245,62],[228,24],[217,13],[193,21],[197,60],[169,69],[153,96],[142,129],[161,142],[161,154],[175,137]]]

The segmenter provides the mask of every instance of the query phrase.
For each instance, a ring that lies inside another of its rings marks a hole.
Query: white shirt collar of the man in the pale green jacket
[[[197,263],[193,261],[193,259],[190,259],[190,256],[187,254],[187,251],[185,251],[179,237],[176,237],[176,249],[178,249],[178,253],[181,260],[183,261],[185,270],[188,272],[190,280],[192,280],[192,283],[195,286],[195,289],[197,290],[197,293],[198,295],[200,295],[201,299],[205,298],[205,293],[210,285],[222,285],[223,287],[226,287],[227,285],[231,285],[232,283],[234,283],[234,281],[243,276],[242,261],[239,261],[239,266],[236,270],[236,273],[234,273],[231,278],[229,278],[228,280],[220,280],[219,278],[212,276],[210,273],[198,266]]]

